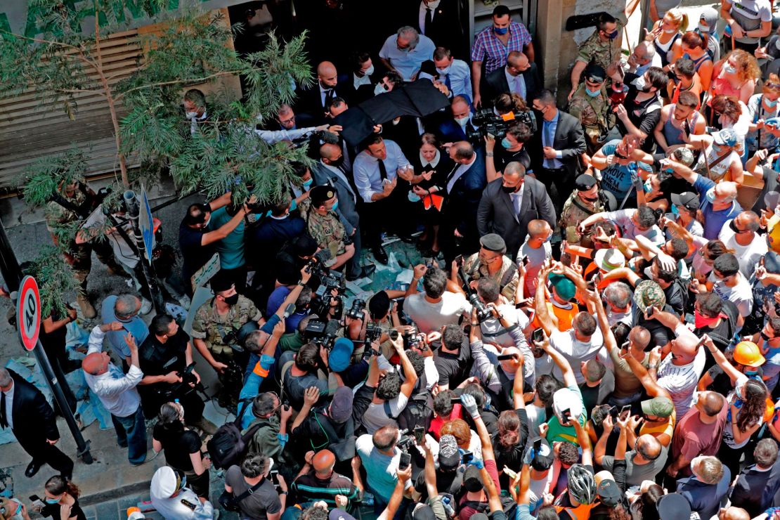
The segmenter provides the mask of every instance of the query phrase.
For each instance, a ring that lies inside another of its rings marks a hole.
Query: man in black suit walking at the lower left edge
[[[57,420],[44,394],[13,370],[0,368],[0,426],[11,427],[16,440],[33,458],[24,476],[34,476],[50,465],[70,479],[73,461],[55,444],[59,440]]]

